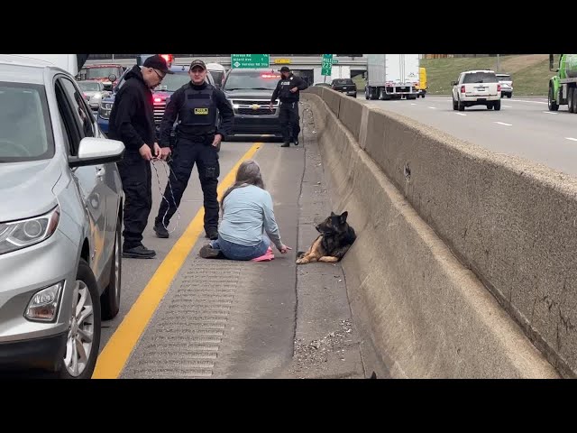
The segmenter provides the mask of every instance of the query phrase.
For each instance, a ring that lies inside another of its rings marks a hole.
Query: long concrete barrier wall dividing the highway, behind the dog
[[[323,119],[315,127],[334,180],[334,210],[356,209],[349,219],[362,226],[364,241],[343,266],[347,284],[357,282],[375,344],[389,354],[386,364],[401,377],[554,376],[528,336],[563,375],[574,375],[574,180],[330,89],[303,96]],[[368,245],[386,260],[367,266],[357,250]],[[528,364],[518,358],[527,354]],[[432,359],[438,364],[426,367]]]

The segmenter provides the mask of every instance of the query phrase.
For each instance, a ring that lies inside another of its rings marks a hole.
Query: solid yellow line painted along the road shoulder
[[[218,196],[222,196],[224,190],[233,185],[236,170],[243,161],[252,158],[259,150],[262,143],[254,143],[252,147],[243,154],[243,157],[234,164],[232,170],[228,172],[224,180],[218,185]],[[102,353],[98,356],[96,368],[92,374],[93,379],[116,379],[123,371],[124,364],[128,356],[133,352],[134,346],[148,325],[154,311],[160,304],[160,300],[167,290],[174,277],[178,274],[180,267],[188,257],[188,253],[197,243],[198,236],[203,230],[205,209],[201,207],[197,215],[192,219],[183,235],[172,246],[160,266],[152,275],[148,284],[142,290],[141,295],[134,302],[133,307],[128,311],[121,324],[108,340]],[[95,348],[96,349],[96,348]]]

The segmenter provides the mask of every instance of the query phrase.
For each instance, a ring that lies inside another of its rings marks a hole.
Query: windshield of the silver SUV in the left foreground
[[[43,160],[53,155],[44,88],[0,82],[0,162]]]

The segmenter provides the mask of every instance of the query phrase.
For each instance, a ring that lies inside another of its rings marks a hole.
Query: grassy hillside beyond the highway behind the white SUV
[[[555,56],[555,65],[557,63]],[[421,66],[426,68],[428,93],[449,95],[451,81],[456,80],[463,70],[493,69],[496,72],[511,74],[515,96],[546,96],[549,78],[554,72],[549,70],[548,54],[524,54],[500,56],[500,69],[497,70],[496,57],[423,59]],[[353,78],[359,92],[364,92],[365,81],[362,76]]]

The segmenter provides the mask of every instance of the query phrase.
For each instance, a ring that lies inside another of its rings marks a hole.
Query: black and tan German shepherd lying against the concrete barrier
[[[348,215],[346,210],[341,215],[331,212],[330,217],[316,226],[320,235],[307,252],[298,252],[297,264],[340,261],[357,238],[353,227],[346,222]]]

